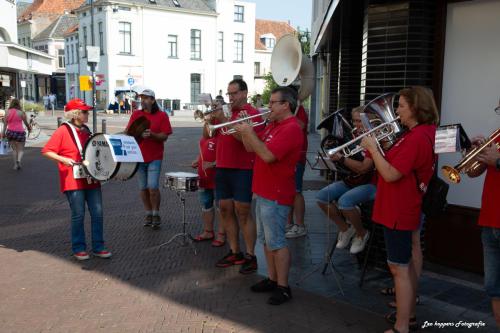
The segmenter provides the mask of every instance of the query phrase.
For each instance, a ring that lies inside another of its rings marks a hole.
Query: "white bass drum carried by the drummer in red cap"
[[[95,180],[129,180],[137,172],[137,162],[115,162],[102,133],[93,134],[83,148],[83,168]]]

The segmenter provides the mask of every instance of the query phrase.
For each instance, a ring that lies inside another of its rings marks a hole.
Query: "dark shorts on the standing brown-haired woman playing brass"
[[[387,263],[398,266],[407,266],[410,263],[412,233],[411,230],[394,230],[384,227]]]

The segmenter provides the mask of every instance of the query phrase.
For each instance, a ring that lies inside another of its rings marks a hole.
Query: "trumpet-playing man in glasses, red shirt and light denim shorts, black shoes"
[[[235,126],[245,148],[257,155],[252,191],[256,195],[257,237],[264,244],[269,274],[251,290],[272,291],[267,301],[272,305],[292,298],[288,286],[290,251],[285,232],[295,198],[295,166],[303,144],[302,129],[292,112],[297,107],[296,96],[288,87],[272,91],[270,124],[260,134],[246,123]]]

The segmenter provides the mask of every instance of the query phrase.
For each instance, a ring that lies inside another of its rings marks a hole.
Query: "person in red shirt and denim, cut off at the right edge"
[[[473,139],[477,145],[484,138]],[[495,143],[500,146],[500,137]],[[495,144],[485,148],[477,157],[488,165],[484,180],[483,197],[479,225],[483,227],[482,242],[484,252],[484,286],[491,297],[493,315],[500,328],[500,151]]]

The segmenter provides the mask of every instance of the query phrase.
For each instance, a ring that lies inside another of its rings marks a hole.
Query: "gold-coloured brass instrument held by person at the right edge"
[[[498,137],[500,137],[500,128],[494,131],[483,144],[469,151],[455,166],[443,166],[441,168],[443,174],[455,184],[460,183],[460,173],[465,173],[471,178],[480,176],[486,169],[486,164],[479,162],[476,157],[491,144],[495,144],[497,149],[500,149],[500,144],[495,143]]]

